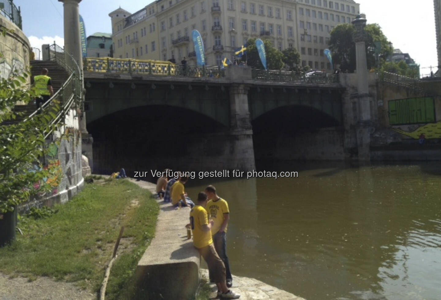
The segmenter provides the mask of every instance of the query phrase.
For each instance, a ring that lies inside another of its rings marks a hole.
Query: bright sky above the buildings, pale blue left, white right
[[[108,13],[118,7],[134,13],[152,0],[82,0],[82,15],[86,34],[111,33]],[[422,74],[430,73],[437,65],[435,18],[433,0],[358,0],[360,12],[367,22],[377,23],[392,41],[394,48],[409,53],[421,67]],[[21,7],[23,31],[32,47],[63,42],[63,4],[58,0],[14,0]],[[39,12],[39,13],[36,13]],[[434,72],[436,69],[434,69]]]

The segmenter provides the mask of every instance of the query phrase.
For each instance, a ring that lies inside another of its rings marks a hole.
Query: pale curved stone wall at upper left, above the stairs
[[[0,15],[0,29],[9,29],[0,38],[0,78],[6,78],[15,71],[26,70],[29,67],[30,44],[24,33],[11,21]]]

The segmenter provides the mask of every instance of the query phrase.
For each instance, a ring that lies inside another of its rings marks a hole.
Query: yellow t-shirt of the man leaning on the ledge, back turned
[[[202,230],[202,225],[208,225],[207,211],[201,205],[195,205],[190,211],[190,226],[193,231],[193,245],[202,248],[213,244],[211,231]]]

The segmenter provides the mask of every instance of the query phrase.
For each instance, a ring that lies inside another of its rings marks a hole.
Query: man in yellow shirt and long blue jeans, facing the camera
[[[217,254],[224,262],[226,270],[227,286],[230,288],[233,285],[233,277],[230,271],[230,263],[227,256],[227,227],[230,220],[230,210],[228,203],[216,194],[216,188],[209,185],[205,188],[205,192],[209,199],[206,210],[210,215],[210,219],[214,220],[214,225],[211,228],[213,235],[213,244]],[[210,280],[211,280],[210,274]]]

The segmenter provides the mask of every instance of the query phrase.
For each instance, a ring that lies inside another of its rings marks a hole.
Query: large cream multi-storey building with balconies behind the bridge
[[[332,70],[323,54],[329,33],[358,12],[353,0],[158,0],[133,15],[120,8],[109,16],[119,58],[180,62],[186,57],[195,64],[191,31],[197,29],[207,65],[232,59],[236,48],[256,37],[280,51],[296,48],[303,66]]]

